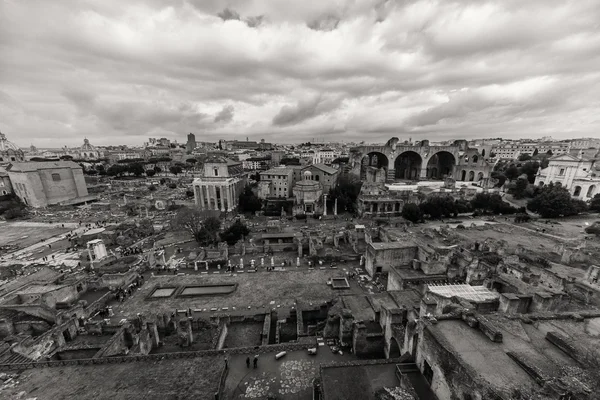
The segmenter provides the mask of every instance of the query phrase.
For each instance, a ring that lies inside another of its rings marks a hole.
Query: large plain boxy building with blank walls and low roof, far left
[[[88,199],[83,170],[72,161],[16,162],[7,172],[15,194],[28,206]]]

